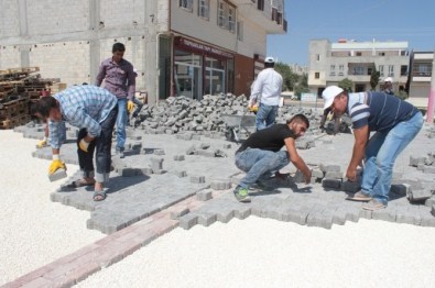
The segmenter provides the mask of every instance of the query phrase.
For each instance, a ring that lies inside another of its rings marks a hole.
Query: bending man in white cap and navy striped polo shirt
[[[399,154],[423,126],[423,115],[414,106],[383,92],[347,93],[337,86],[327,87],[322,97],[324,109],[352,121],[355,144],[346,177],[357,180],[357,167],[365,159],[361,191],[348,198],[368,201],[362,208],[378,210],[388,204],[393,166]],[[376,132],[370,139],[370,132]]]

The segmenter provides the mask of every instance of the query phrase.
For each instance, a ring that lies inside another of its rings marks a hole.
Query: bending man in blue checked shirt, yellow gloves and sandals
[[[37,113],[48,121],[53,162],[48,174],[66,169],[59,158],[61,124],[66,121],[79,128],[77,154],[83,179],[69,186],[95,186],[94,200],[106,199],[105,182],[109,179],[111,164],[111,135],[118,114],[118,99],[104,88],[96,86],[74,86],[53,97],[42,98],[35,107]],[[96,151],[97,171],[94,169],[94,151]]]

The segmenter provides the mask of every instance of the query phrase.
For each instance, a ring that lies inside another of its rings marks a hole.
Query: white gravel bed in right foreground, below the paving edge
[[[435,229],[250,217],[176,229],[79,287],[434,287]]]

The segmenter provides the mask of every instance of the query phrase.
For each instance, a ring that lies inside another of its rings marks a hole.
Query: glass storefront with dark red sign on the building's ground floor
[[[233,90],[233,54],[182,36],[173,48],[173,95],[200,100]]]

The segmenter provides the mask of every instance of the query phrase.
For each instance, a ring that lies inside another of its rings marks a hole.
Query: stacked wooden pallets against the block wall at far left
[[[43,79],[39,67],[0,70],[0,129],[13,129],[31,119],[30,106],[59,79]]]

